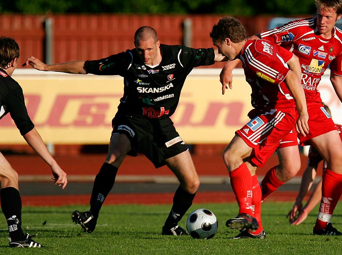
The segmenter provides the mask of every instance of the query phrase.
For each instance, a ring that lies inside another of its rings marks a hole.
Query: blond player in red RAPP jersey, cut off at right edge
[[[324,160],[327,169],[322,177],[320,212],[313,229],[314,234],[342,233],[330,222],[336,204],[342,194],[342,142],[337,127],[321,106],[317,86],[330,64],[330,80],[342,100],[342,31],[335,27],[342,17],[341,0],[315,0],[317,17],[292,21],[251,39],[266,39],[292,51],[301,67],[301,84],[304,88],[309,113],[309,133],[299,134],[301,145],[314,146]],[[222,89],[232,88],[231,70],[238,63],[227,63],[220,74]],[[322,125],[323,124],[323,125]],[[261,182],[262,200],[278,187],[294,177],[300,169],[299,150],[295,132],[289,133],[278,148],[279,165],[270,169]],[[255,205],[256,207],[258,205]]]

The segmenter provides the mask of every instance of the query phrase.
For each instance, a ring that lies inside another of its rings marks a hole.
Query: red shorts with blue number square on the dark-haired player
[[[244,142],[253,148],[250,160],[263,167],[268,158],[276,151],[280,141],[296,123],[296,108],[271,110],[260,114],[236,131]]]

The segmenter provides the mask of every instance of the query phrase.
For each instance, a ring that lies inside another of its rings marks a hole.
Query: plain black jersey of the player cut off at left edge
[[[0,68],[0,119],[10,113],[21,135],[34,128],[27,114],[21,86]]]

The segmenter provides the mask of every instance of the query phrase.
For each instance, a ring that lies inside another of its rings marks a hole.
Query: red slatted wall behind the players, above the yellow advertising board
[[[2,36],[14,38],[21,61],[28,56],[45,60],[45,21],[52,21],[52,63],[107,57],[133,48],[135,30],[156,29],[161,43],[183,44],[183,22],[192,21],[192,47],[212,47],[209,33],[224,15],[0,15]],[[267,28],[271,16],[237,17],[247,34]]]

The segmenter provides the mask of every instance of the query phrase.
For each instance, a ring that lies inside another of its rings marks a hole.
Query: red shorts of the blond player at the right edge
[[[311,138],[319,136],[321,134],[328,133],[332,130],[337,130],[337,127],[329,113],[326,112],[324,107],[320,103],[309,104],[309,133],[306,136],[298,134],[300,145],[310,145]]]

